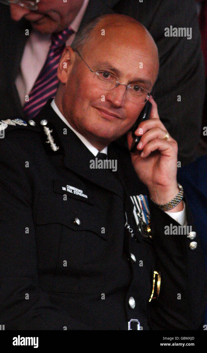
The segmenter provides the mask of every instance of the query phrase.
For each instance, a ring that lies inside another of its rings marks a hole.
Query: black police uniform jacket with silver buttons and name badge
[[[57,151],[46,143],[43,119]],[[94,155],[49,103],[35,122],[8,121],[0,139],[5,330],[127,330],[131,319],[143,330],[198,329],[206,305],[198,237],[191,250],[187,235],[165,235],[165,226],[179,224],[150,200],[152,239],[142,237],[130,195],[148,190],[129,152],[112,143],[108,159],[117,159],[117,172],[91,169]],[[157,298],[149,301],[154,271],[161,285],[159,296],[154,289]]]

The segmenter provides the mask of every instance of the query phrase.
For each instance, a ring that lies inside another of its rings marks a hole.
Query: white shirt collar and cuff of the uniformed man
[[[77,132],[68,122],[67,119],[63,116],[63,114],[59,111],[58,107],[55,104],[55,100],[52,100],[51,102],[51,107],[55,110],[56,114],[64,121],[64,123],[77,135],[77,137],[80,138],[82,143],[88,148],[88,150],[96,156],[99,152],[97,148],[95,148],[84,136],[82,136],[79,132]],[[107,146],[103,148],[101,153],[106,153],[107,154]],[[170,217],[172,217],[176,222],[180,223],[182,226],[187,226],[187,217],[186,217],[186,205],[183,201],[184,208],[182,211],[179,212],[170,212],[170,211],[165,211]],[[164,232],[164,229],[163,229]]]

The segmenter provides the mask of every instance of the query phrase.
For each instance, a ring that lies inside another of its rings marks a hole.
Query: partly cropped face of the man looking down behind
[[[11,18],[28,20],[32,28],[41,33],[59,32],[68,27],[79,12],[84,0],[40,0],[37,11],[30,11],[18,4],[10,5]]]

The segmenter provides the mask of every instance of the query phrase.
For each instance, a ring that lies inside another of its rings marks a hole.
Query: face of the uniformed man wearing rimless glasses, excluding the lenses
[[[81,50],[89,67],[94,71],[114,74],[120,83],[137,83],[151,91],[158,63],[156,55],[152,54],[155,54],[155,50],[153,52],[149,48],[149,42],[145,43],[145,38],[134,38],[133,28],[131,33],[128,29],[127,34],[123,32],[123,27],[120,30],[115,28],[115,31],[106,26],[102,28],[105,28],[105,37],[101,36],[101,29],[98,29],[100,33],[96,39]],[[90,142],[102,141],[107,145],[132,127],[144,107],[143,98],[134,101],[129,99],[124,85],[112,90],[98,87],[95,74],[77,53],[74,53],[74,58],[73,68],[69,69],[64,86],[63,115]],[[143,68],[139,68],[141,62]]]

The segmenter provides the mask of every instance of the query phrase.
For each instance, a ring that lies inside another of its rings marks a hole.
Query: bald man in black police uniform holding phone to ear
[[[176,181],[177,144],[150,97],[157,73],[144,26],[102,16],[64,50],[55,100],[34,120],[1,121],[5,330],[202,324],[203,255]],[[141,139],[130,155],[116,140],[147,100],[150,119],[136,130]],[[188,236],[165,232],[187,224]]]

